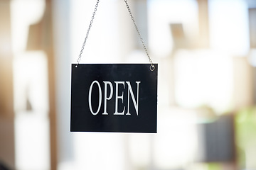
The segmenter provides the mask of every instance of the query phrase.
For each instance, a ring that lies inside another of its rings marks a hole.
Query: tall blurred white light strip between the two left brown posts
[[[45,1],[11,1],[14,54],[15,161],[19,170],[50,169],[46,54],[26,52],[28,28],[43,16]]]

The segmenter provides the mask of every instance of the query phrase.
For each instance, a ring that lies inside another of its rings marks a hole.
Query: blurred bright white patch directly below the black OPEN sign
[[[78,132],[74,140],[74,170],[124,169],[124,140],[120,134]]]

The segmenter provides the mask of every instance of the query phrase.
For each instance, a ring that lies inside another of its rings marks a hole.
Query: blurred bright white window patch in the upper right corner
[[[210,46],[245,56],[250,48],[248,6],[243,0],[209,1]]]

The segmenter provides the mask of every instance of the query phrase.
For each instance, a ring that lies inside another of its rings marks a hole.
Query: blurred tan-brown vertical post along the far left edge
[[[0,164],[15,168],[11,1],[0,1]]]

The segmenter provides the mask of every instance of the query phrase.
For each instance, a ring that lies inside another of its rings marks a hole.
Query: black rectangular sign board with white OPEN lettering
[[[157,69],[72,64],[71,132],[156,133]]]

